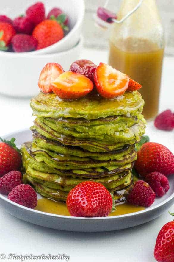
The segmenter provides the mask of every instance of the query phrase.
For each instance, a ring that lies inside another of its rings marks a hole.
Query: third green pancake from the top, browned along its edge
[[[139,121],[139,124],[135,124],[125,132],[115,132],[112,136],[105,135],[105,138],[98,136],[98,140],[76,138],[72,135],[65,135],[62,132],[57,132],[51,129],[46,124],[41,123],[39,118],[35,119],[34,125],[31,127],[31,130],[36,130],[46,138],[59,141],[60,143],[65,145],[80,146],[92,152],[107,152],[115,150],[117,148],[121,148],[125,144],[132,145],[134,143],[137,143],[141,139],[141,136],[145,133],[145,123],[144,121]]]

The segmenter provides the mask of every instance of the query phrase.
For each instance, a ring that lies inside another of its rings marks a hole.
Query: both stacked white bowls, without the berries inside
[[[0,93],[8,96],[31,97],[38,94],[38,78],[46,63],[56,62],[64,70],[79,58],[83,38],[81,27],[84,18],[84,0],[41,0],[46,13],[61,8],[69,17],[70,31],[59,42],[46,48],[24,53],[0,51]],[[6,0],[0,3],[0,14],[15,18],[37,0]]]

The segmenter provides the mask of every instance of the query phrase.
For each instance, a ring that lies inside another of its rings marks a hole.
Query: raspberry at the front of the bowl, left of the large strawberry
[[[11,43],[15,52],[28,52],[35,50],[37,47],[37,40],[31,35],[25,34],[14,35]]]

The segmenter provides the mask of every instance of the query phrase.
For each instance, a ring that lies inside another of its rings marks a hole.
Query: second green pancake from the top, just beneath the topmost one
[[[137,121],[134,124],[126,126],[126,124],[105,124],[93,127],[79,127],[79,128],[62,128],[56,121],[50,121],[46,118],[39,118],[35,120],[35,123],[42,122],[47,127],[61,133],[66,136],[73,136],[80,139],[93,139],[96,141],[108,141],[111,143],[117,143],[134,139],[138,140],[140,136],[145,133],[145,120],[142,115],[138,116]],[[84,132],[83,132],[84,131]]]

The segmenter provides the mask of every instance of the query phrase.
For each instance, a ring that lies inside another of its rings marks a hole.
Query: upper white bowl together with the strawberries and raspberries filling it
[[[0,54],[50,54],[77,44],[84,1],[61,1],[59,6],[57,1],[31,2],[7,0],[0,4]]]

